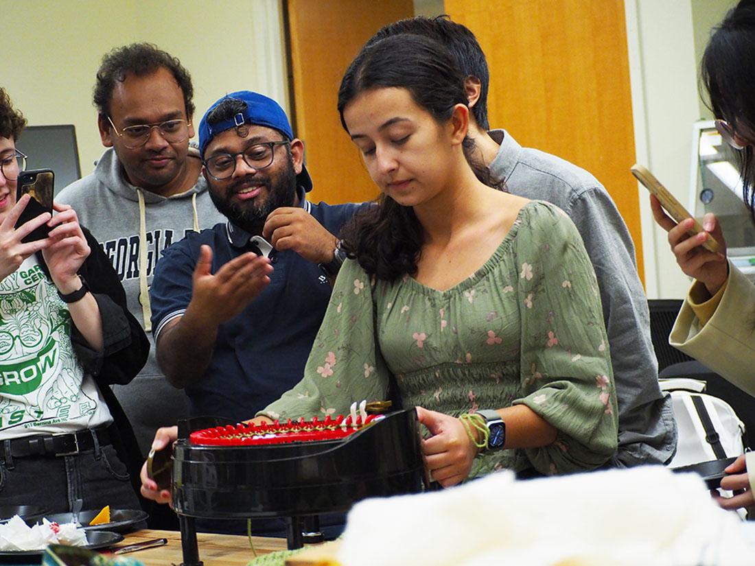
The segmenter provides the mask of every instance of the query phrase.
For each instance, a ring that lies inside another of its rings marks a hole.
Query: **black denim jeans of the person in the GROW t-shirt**
[[[0,459],[0,504],[36,505],[47,512],[82,509],[140,509],[126,466],[112,446],[100,446],[72,456]]]

